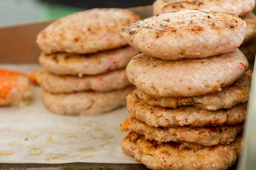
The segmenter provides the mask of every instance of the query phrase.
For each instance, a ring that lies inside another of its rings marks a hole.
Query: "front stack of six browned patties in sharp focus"
[[[251,72],[237,48],[246,24],[222,12],[162,13],[122,29],[143,53],[127,65],[137,89],[122,149],[149,169],[228,169],[240,152]]]

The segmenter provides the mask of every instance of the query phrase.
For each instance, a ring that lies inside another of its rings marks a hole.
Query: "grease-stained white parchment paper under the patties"
[[[38,64],[0,64],[31,72]],[[127,108],[102,115],[75,117],[50,113],[35,86],[25,108],[0,107],[0,163],[117,163],[138,164],[122,152],[126,135],[119,125],[129,118]]]

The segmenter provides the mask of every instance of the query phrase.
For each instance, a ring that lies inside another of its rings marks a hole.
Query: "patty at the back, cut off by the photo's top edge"
[[[210,11],[223,11],[244,16],[254,7],[255,0],[156,0],[153,4],[153,13],[156,15],[183,9],[205,8]]]

